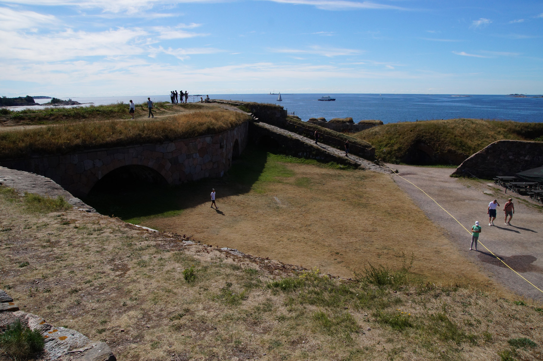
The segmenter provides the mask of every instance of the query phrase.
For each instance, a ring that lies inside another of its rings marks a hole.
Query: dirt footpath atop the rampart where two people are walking
[[[190,103],[192,104],[192,103]],[[156,114],[154,118],[147,118],[147,111],[139,111],[138,110],[138,115],[136,115],[136,119],[134,120],[159,120],[159,119],[164,119],[164,118],[167,118],[167,117],[171,117],[172,115],[175,115],[175,114],[188,114],[188,113],[194,113],[194,112],[201,112],[201,111],[217,111],[217,110],[229,110],[229,111],[235,111],[235,112],[241,112],[241,113],[245,113],[243,111],[241,111],[240,109],[234,107],[234,106],[231,106],[231,105],[226,105],[226,104],[216,104],[216,103],[211,103],[211,104],[206,104],[206,103],[197,103],[199,106],[201,106],[201,108],[195,108],[195,109],[185,109],[185,108],[182,108],[180,106],[177,106],[177,105],[168,105],[167,108],[163,108],[165,109],[166,113],[163,113],[163,114]],[[128,110],[127,110],[128,112]],[[156,113],[156,112],[155,112]],[[113,118],[113,119],[106,119],[106,120],[101,120],[101,119],[90,119],[90,120],[87,120],[87,121],[126,121],[126,120],[132,120],[130,118]],[[77,121],[73,121],[72,123],[78,123]],[[61,124],[58,124],[58,123],[50,123],[50,124],[36,124],[36,125],[28,125],[28,124],[24,124],[24,125],[3,125],[3,124],[0,124],[0,132],[10,132],[10,131],[17,131],[17,130],[30,130],[30,129],[34,129],[34,128],[42,128],[42,127],[49,127],[49,126],[55,126],[55,125],[65,125],[66,123],[61,123]],[[70,124],[70,123],[68,123]]]

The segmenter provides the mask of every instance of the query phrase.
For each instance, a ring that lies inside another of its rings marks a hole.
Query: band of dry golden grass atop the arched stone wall
[[[248,115],[237,112],[194,112],[165,120],[85,122],[2,132],[0,159],[192,138],[220,133],[247,120]]]

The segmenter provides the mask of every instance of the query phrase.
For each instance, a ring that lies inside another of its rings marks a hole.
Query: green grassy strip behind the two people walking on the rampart
[[[168,102],[155,102],[153,111],[160,114],[168,105]],[[72,108],[36,106],[21,111],[1,109],[0,124],[30,125],[71,123],[84,120],[129,119],[132,116],[128,113],[128,110],[129,105],[123,102],[109,105],[90,105]],[[136,104],[136,115],[138,114],[147,116],[147,103]]]

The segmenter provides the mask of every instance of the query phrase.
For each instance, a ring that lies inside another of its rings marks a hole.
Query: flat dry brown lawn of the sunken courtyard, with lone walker
[[[240,194],[236,182],[207,182],[209,189],[217,188],[224,215],[209,208],[206,190],[190,190],[175,196],[181,209],[183,204],[206,203],[141,224],[347,278],[369,262],[398,267],[402,254],[414,254],[412,270],[422,279],[503,289],[459,254],[390,175],[287,159],[268,154],[247,193]],[[250,166],[240,162],[235,166]]]

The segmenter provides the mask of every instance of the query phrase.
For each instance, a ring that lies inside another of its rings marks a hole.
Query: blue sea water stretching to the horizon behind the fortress
[[[336,98],[335,101],[319,101],[323,95]],[[150,96],[150,95],[149,95]],[[209,94],[211,99],[244,100],[272,103],[283,106],[289,113],[298,115],[302,120],[324,117],[351,117],[355,123],[362,119],[377,119],[383,123],[402,121],[477,118],[527,122],[543,122],[543,98],[512,95],[457,95],[457,94],[281,94],[282,101],[277,101],[273,94]],[[147,101],[146,95],[107,96],[100,98],[71,98],[81,103],[105,105],[116,102],[136,104]],[[150,96],[153,101],[170,101],[169,95]],[[205,95],[203,96],[205,98]],[[199,101],[200,96],[189,96],[189,101]],[[47,102],[48,99],[39,99]],[[128,107],[128,106],[127,106]],[[22,109],[12,107],[11,109]],[[28,108],[28,107],[25,107]],[[30,107],[34,108],[34,107]]]

